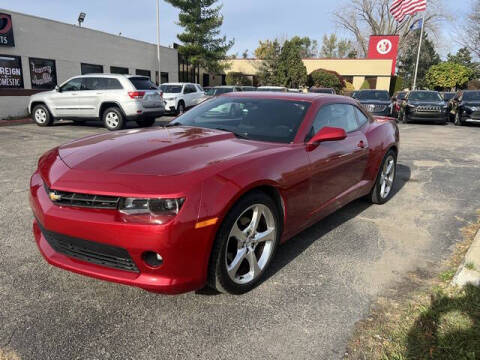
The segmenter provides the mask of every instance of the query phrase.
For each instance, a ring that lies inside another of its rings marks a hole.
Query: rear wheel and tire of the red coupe
[[[392,196],[393,185],[397,175],[397,154],[389,150],[378,170],[375,185],[370,192],[369,200],[373,204],[385,204]]]

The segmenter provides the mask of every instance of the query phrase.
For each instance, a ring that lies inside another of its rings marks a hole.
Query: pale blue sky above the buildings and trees
[[[309,36],[319,44],[324,34],[337,33],[346,37],[333,20],[332,13],[347,0],[220,0],[223,4],[222,34],[233,38],[230,53],[241,55],[253,50],[258,40],[294,35]],[[447,14],[461,19],[472,0],[440,0]],[[4,2],[0,8],[41,16],[66,23],[76,23],[78,14],[87,14],[84,26],[148,42],[156,41],[155,0],[17,0]],[[176,25],[178,11],[160,0],[160,43],[172,46],[178,42],[181,28]],[[442,28],[439,52],[445,56],[458,46],[451,40],[454,26]]]

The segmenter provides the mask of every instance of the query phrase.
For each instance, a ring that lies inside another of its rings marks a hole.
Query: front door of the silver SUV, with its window
[[[68,118],[78,114],[78,95],[82,91],[82,78],[73,78],[63,84],[50,97],[49,106],[55,117]]]

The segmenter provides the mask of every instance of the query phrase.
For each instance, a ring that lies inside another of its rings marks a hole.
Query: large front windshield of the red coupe
[[[173,125],[233,132],[240,138],[290,143],[310,107],[309,102],[219,97],[178,117]]]

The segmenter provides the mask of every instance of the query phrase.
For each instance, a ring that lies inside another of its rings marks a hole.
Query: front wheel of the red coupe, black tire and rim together
[[[241,198],[217,232],[208,284],[223,293],[250,291],[270,266],[279,240],[280,220],[275,202],[260,191]]]

